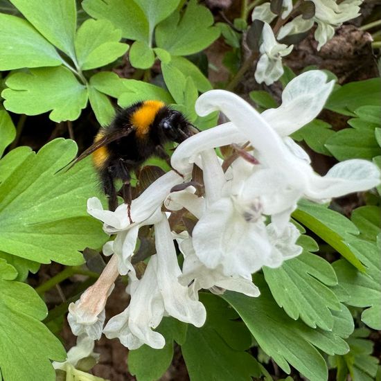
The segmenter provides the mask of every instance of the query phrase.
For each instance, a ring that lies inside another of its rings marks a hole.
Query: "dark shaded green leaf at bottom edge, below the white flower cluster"
[[[254,357],[245,352],[251,344],[249,331],[227,303],[213,294],[200,294],[206,306],[206,324],[188,326],[181,352],[192,381],[249,381],[258,373]]]

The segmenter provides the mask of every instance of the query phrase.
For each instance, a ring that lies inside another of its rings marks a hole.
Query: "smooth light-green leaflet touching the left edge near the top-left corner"
[[[0,70],[62,64],[54,46],[28,21],[0,13]]]

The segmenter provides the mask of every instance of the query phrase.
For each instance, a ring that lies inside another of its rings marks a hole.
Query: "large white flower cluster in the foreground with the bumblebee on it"
[[[132,201],[132,224],[125,204],[115,212],[106,211],[98,199],[91,198],[89,213],[105,223],[107,233],[116,233],[116,238],[104,247],[105,254],[113,254],[105,269],[108,276],[102,274],[69,307],[73,332],[99,339],[105,299],[118,269],[130,278],[127,292],[131,300],[124,312],[109,319],[103,333],[118,337],[130,349],[143,344],[163,348],[164,337],[154,328],[164,316],[197,327],[204,324],[206,311],[198,300],[199,290],[258,296],[251,274],[263,266],[278,267],[301,253],[296,244],[300,233],[290,222],[301,197],[320,202],[378,185],[378,168],[360,159],[338,163],[324,177],[317,175],[308,154],[287,136],[319,114],[334,85],[326,80],[321,71],[303,73],[283,91],[282,105],[262,114],[233,93],[208,91],[197,100],[197,114],[206,116],[218,110],[230,122],[200,132],[177,147],[171,163],[184,178],[170,171],[154,181]],[[222,167],[213,148],[245,143],[241,156],[229,168]],[[202,196],[193,186],[186,186],[194,164],[202,168]],[[183,182],[182,190],[171,192]],[[169,213],[161,211],[163,204],[169,211],[185,208],[197,218],[191,236],[186,231],[171,232]],[[139,227],[147,224],[154,225],[156,254],[139,279],[131,260]],[[174,240],[184,256],[182,268]]]

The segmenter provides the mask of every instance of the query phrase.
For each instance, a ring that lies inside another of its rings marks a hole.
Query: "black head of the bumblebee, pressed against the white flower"
[[[190,124],[185,116],[177,110],[167,109],[166,113],[159,121],[159,129],[165,140],[181,143],[188,137],[199,132],[197,128]]]

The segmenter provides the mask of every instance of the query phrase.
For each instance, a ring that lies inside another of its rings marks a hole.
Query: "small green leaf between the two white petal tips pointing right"
[[[329,123],[314,119],[294,132],[291,137],[296,141],[304,140],[314,152],[331,156],[330,151],[326,148],[326,141],[335,134],[335,131],[330,130],[331,127]]]

